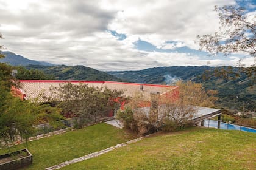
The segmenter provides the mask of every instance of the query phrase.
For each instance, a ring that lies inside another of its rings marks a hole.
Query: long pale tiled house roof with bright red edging
[[[115,81],[76,81],[76,80],[19,80],[20,88],[16,89],[21,98],[38,102],[46,102],[51,95],[50,88],[59,87],[65,83],[85,83],[88,86],[107,87],[108,89],[123,90],[123,97],[129,97],[137,92],[142,92],[145,97],[150,97],[151,92],[158,92],[160,96],[168,95],[172,98],[179,97],[177,86],[159,84],[126,83]]]

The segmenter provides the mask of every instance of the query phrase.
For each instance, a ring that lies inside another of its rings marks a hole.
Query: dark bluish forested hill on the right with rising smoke
[[[177,80],[191,80],[203,83],[206,89],[218,90],[219,107],[230,110],[255,111],[256,87],[252,86],[255,77],[230,74],[229,78],[213,76],[215,69],[223,67],[208,66],[172,66],[156,67],[139,71],[108,72],[118,78],[137,83],[172,84]],[[227,68],[227,67],[226,67]],[[233,68],[237,71],[238,68]],[[208,77],[204,79],[204,77]]]

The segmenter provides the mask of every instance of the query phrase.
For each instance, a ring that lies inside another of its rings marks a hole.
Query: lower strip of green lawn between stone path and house
[[[84,129],[69,131],[65,134],[31,141],[28,146],[20,144],[11,149],[15,151],[16,149],[28,148],[33,155],[33,163],[26,169],[44,169],[123,143],[132,138],[135,136],[127,134],[122,129],[101,123]],[[0,150],[0,154],[4,154],[4,152],[6,151]]]

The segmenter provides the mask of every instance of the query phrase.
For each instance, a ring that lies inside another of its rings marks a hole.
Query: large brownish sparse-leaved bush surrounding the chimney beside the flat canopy
[[[197,112],[195,106],[213,106],[216,92],[205,90],[202,84],[191,81],[178,82],[177,85],[179,98],[160,96],[159,93],[151,93],[150,99],[142,93],[133,95],[125,110],[118,112],[117,118],[124,123],[124,127],[140,135],[192,126],[191,119]],[[150,107],[143,107],[148,103]]]

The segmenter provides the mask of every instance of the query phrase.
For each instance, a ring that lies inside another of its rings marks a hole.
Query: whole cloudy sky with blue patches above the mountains
[[[196,35],[219,30],[215,5],[256,18],[255,0],[0,0],[0,44],[31,60],[104,71],[253,64],[198,50]]]

